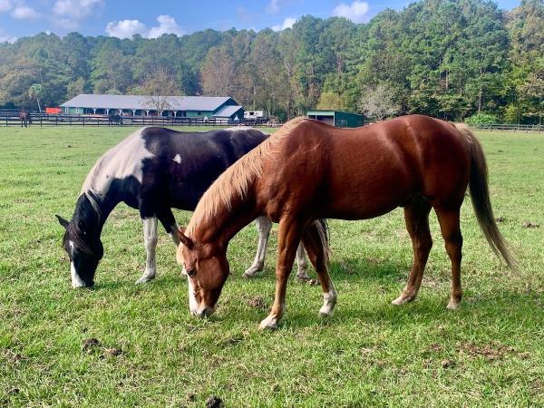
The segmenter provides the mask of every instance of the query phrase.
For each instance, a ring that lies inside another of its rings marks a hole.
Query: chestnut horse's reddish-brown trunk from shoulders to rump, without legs
[[[418,195],[433,206],[458,206],[470,177],[468,141],[452,124],[426,116],[357,129],[300,121],[276,143],[260,181],[272,219],[290,210],[286,202],[337,219],[374,218]]]

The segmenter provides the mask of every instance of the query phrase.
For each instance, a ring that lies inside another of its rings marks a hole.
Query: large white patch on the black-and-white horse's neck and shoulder
[[[145,129],[135,131],[102,155],[83,182],[82,193],[92,191],[99,197],[103,196],[107,194],[113,180],[130,176],[141,182],[143,160],[155,157],[146,149],[141,136]]]

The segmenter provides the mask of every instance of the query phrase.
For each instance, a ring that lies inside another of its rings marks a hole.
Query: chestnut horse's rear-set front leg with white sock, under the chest
[[[319,282],[323,289],[323,306],[319,309],[319,316],[333,316],[336,305],[336,291],[328,273],[325,254],[326,249],[323,247],[323,242],[321,241],[316,223],[306,227],[302,242],[304,243],[304,248],[306,248],[310,262],[316,268]]]

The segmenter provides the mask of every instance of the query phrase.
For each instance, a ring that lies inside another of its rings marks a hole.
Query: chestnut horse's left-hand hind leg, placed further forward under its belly
[[[416,199],[404,207],[404,221],[412,238],[413,266],[410,277],[401,296],[393,300],[393,305],[403,305],[412,301],[422,284],[423,272],[432,248],[431,231],[429,230],[429,212],[431,204],[428,201]]]

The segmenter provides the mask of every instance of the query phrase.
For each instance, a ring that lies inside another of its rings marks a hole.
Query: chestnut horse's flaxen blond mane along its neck
[[[221,174],[200,199],[189,221],[187,233],[194,232],[202,221],[212,219],[217,214],[220,205],[230,209],[233,199],[245,197],[250,182],[262,175],[263,158],[270,157],[277,142],[285,138],[302,121],[307,119],[298,117],[288,121],[266,141],[249,151]]]

